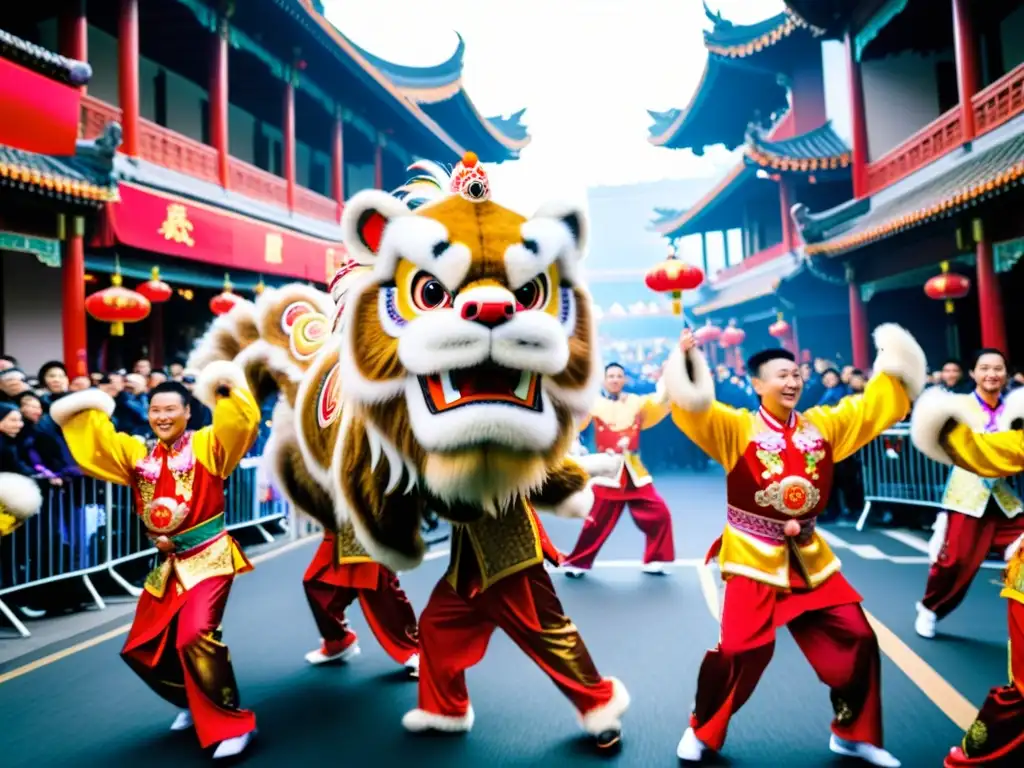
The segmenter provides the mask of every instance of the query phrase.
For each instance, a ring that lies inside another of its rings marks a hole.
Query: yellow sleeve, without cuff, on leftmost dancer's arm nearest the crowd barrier
[[[114,428],[102,411],[80,411],[62,425],[65,441],[82,471],[119,485],[131,485],[135,464],[148,450],[137,437]]]

